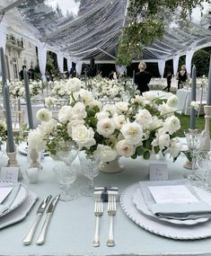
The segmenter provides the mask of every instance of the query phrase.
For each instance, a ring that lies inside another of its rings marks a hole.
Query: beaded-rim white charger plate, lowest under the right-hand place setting
[[[198,225],[172,225],[171,223],[165,223],[159,220],[154,221],[154,219],[140,214],[140,211],[137,210],[132,201],[133,194],[136,192],[138,187],[139,183],[137,182],[127,187],[120,196],[122,209],[137,225],[151,233],[176,240],[195,240],[211,236],[211,221],[200,223]],[[204,200],[210,202],[211,194],[198,188],[196,190],[198,194],[200,194],[200,197],[203,197]]]

